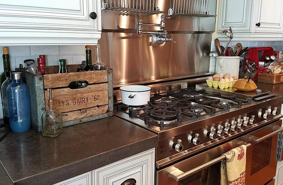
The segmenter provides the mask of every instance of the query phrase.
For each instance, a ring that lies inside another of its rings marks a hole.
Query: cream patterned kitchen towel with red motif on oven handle
[[[234,148],[223,155],[221,161],[221,185],[245,185],[246,145]]]

